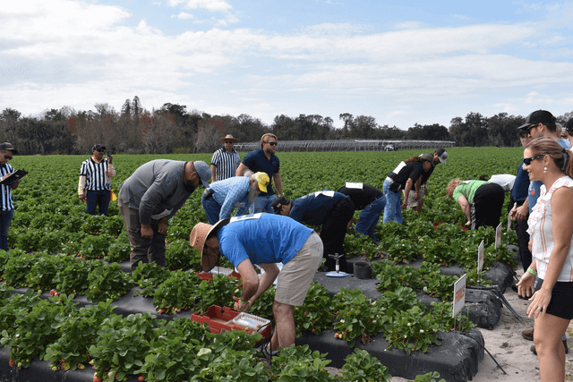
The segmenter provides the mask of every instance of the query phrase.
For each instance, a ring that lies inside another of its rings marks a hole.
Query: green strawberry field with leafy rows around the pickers
[[[315,282],[304,306],[295,309],[297,335],[329,333],[337,341],[368,349],[370,337],[381,335],[391,349],[410,354],[440,346],[440,333],[453,327],[451,304],[455,276],[444,267],[466,267],[467,284],[487,277],[475,272],[477,246],[485,242],[485,264],[515,267],[506,233],[494,250],[492,228],[464,231],[466,223],[458,204],[446,198],[453,178],[477,179],[485,174],[515,174],[523,149],[449,149],[447,165],[439,165],[428,183],[429,194],[421,214],[404,211],[405,225],[381,223],[376,233],[380,245],[346,235],[347,257],[372,260],[372,276],[380,298],[366,297],[358,288],[342,289],[334,296]],[[283,190],[288,199],[312,191],[337,190],[345,182],[362,182],[382,188],[387,174],[399,161],[417,151],[278,153]],[[211,155],[116,155],[112,188],[141,164],[159,157],[204,160]],[[243,155],[242,155],[243,157]],[[206,306],[232,306],[240,295],[240,280],[215,276],[209,284],[196,274],[199,253],[188,244],[192,226],[206,222],[201,191],[196,191],[168,225],[167,269],[145,264],[133,274],[121,265],[129,259],[129,242],[116,202],[109,216],[89,216],[77,198],[80,156],[15,157],[15,168],[30,172],[13,191],[15,211],[8,242],[10,252],[0,253],[0,344],[9,349],[13,369],[26,369],[34,360],[50,362],[51,369],[91,369],[101,380],[388,380],[389,371],[368,352],[356,350],[346,358],[341,376],[329,376],[326,353],[307,345],[280,352],[270,368],[256,361],[253,345],[257,333],[211,335],[189,319],[195,296]],[[506,207],[509,195],[506,198]],[[358,216],[356,212],[355,217]],[[502,214],[504,216],[504,214]],[[501,219],[503,225],[507,219]],[[436,225],[437,223],[443,223]],[[383,260],[381,260],[383,259]],[[408,267],[412,262],[419,267]],[[225,266],[225,264],[223,264]],[[228,266],[228,264],[227,264]],[[215,285],[215,286],[213,286]],[[13,292],[16,289],[19,293]],[[145,296],[158,315],[134,312],[116,315],[114,302],[126,295]],[[424,306],[416,293],[436,299]],[[78,299],[85,303],[79,304]],[[274,292],[264,293],[252,313],[271,318]],[[461,330],[474,324],[458,315]],[[357,349],[357,348],[356,348]],[[5,365],[4,365],[5,366]],[[2,365],[0,365],[0,368]],[[80,371],[78,371],[80,372]],[[362,373],[362,374],[361,374]],[[57,375],[57,374],[56,374]],[[405,376],[406,377],[406,376]],[[418,376],[431,380],[436,376]],[[413,378],[413,377],[407,377]],[[134,380],[134,379],[133,379]]]

